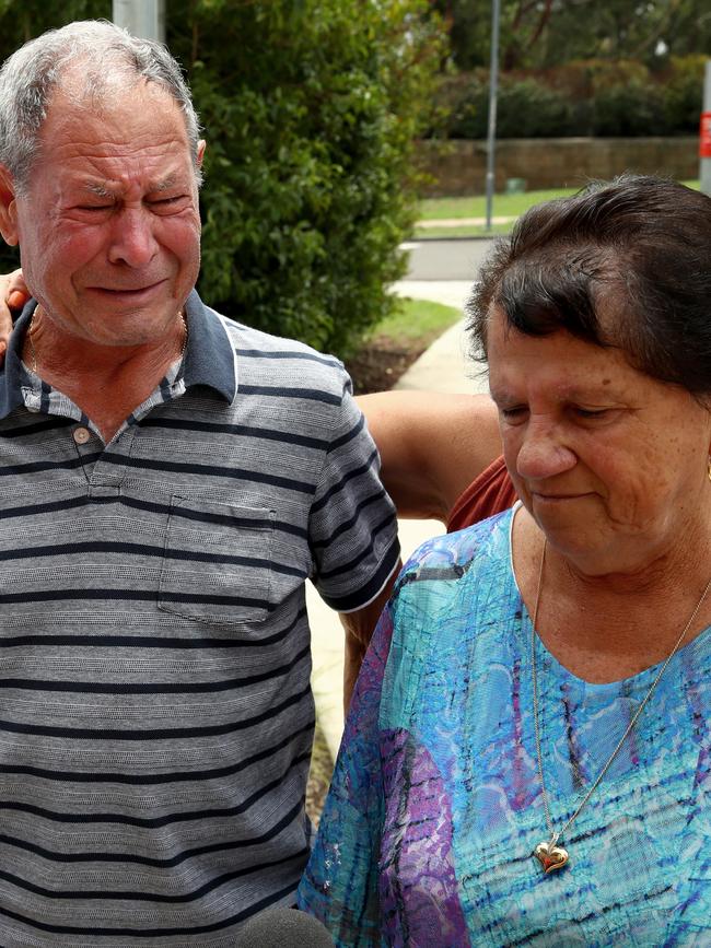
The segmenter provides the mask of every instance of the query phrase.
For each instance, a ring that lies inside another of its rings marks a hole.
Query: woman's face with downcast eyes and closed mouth
[[[568,332],[494,308],[489,383],[504,456],[550,545],[588,575],[634,572],[711,528],[711,414],[689,393]]]

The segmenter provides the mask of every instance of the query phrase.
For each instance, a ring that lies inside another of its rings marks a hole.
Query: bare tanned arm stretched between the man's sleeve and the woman
[[[486,395],[378,391],[357,401],[400,517],[446,523],[462,491],[501,454],[497,410]]]

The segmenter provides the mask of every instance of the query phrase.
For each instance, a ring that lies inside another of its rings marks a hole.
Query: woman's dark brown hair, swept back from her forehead
[[[711,198],[622,175],[538,204],[500,241],[467,305],[486,360],[490,309],[533,336],[566,330],[711,396]]]

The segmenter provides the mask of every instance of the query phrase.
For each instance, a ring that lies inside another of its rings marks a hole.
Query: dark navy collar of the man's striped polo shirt
[[[37,303],[31,300],[18,318],[8,342],[4,364],[0,368],[0,419],[24,403],[22,389],[32,379],[22,364],[22,346]],[[185,351],[185,387],[207,385],[225,401],[234,401],[237,373],[234,347],[224,319],[203,305],[194,290],[185,304],[188,343]]]

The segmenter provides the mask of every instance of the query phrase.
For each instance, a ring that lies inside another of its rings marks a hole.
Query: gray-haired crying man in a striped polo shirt
[[[232,945],[292,904],[314,726],[304,585],[349,682],[398,562],[340,363],[195,292],[205,142],[108,23],[0,72],[0,943]]]

